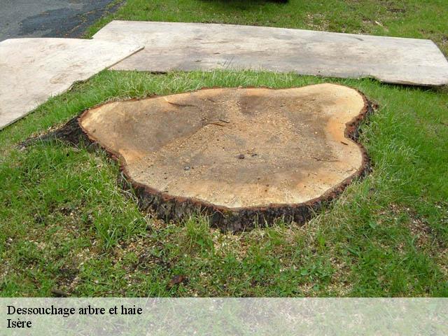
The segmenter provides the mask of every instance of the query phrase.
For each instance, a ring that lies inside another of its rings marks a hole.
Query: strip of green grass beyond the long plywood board
[[[111,20],[211,22],[430,38],[448,55],[446,0],[128,0]]]

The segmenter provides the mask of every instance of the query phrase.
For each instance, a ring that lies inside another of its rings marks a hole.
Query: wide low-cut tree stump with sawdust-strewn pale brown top
[[[159,216],[206,210],[240,230],[255,217],[304,221],[363,174],[353,139],[366,111],[342,85],[214,88],[107,103],[78,123]]]

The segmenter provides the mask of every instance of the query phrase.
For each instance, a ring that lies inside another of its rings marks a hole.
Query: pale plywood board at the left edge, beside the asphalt
[[[0,43],[0,130],[77,80],[137,52],[135,44],[78,38],[11,38]]]

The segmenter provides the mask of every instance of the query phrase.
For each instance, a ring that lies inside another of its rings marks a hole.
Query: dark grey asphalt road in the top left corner
[[[79,37],[113,0],[0,0],[0,41],[16,37]],[[115,8],[114,8],[115,7]]]

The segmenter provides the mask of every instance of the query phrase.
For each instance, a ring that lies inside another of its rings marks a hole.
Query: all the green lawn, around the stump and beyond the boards
[[[447,53],[445,7],[130,0],[113,16],[430,37]],[[207,218],[165,223],[137,209],[105,153],[58,142],[17,146],[110,99],[323,82],[356,87],[377,104],[360,137],[372,172],[302,226],[232,235]],[[447,148],[446,88],[253,71],[103,71],[0,132],[0,295],[448,296]],[[186,280],[174,284],[175,276]]]

